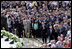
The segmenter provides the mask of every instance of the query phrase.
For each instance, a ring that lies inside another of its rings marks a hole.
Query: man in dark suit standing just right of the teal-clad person
[[[42,33],[43,43],[47,43],[48,33],[47,33],[47,29],[46,29],[46,24],[44,22],[42,22],[42,25],[41,25],[41,33]]]

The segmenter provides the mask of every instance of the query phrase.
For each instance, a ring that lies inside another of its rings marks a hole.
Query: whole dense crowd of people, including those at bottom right
[[[42,38],[50,48],[71,47],[71,1],[1,1],[1,29]],[[58,37],[58,38],[57,38]]]

